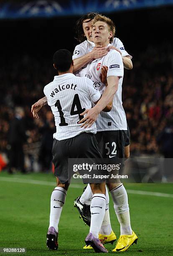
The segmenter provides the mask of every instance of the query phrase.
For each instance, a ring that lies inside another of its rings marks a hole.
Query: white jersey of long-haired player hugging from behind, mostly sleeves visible
[[[117,49],[121,51],[122,57],[130,56],[130,59],[132,59],[132,56],[127,53],[127,51],[124,48],[124,45],[122,44],[122,41],[119,38],[114,37],[111,45],[115,46]],[[85,40],[81,44],[76,45],[73,53],[73,59],[79,58],[91,52],[94,47],[95,44],[89,40]]]

